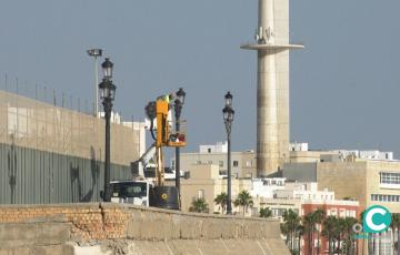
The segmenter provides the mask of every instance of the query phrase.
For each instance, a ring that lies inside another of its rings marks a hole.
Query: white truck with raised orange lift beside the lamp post
[[[154,142],[138,161],[131,163],[132,181],[111,182],[111,202],[179,210],[177,187],[164,185],[162,147],[184,146],[184,129],[179,132],[173,131],[170,105],[163,98],[150,102],[146,106],[146,114],[151,123],[150,132]]]

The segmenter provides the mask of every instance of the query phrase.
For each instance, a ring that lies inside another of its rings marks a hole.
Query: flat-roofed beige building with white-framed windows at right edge
[[[354,198],[361,207],[383,205],[400,213],[400,161],[354,160],[287,164],[283,176],[318,182],[338,198]]]

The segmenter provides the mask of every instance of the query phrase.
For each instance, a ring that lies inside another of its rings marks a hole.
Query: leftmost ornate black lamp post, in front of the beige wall
[[[104,162],[104,194],[103,201],[111,202],[111,186],[110,186],[110,119],[112,102],[116,96],[117,86],[112,83],[112,68],[113,63],[110,59],[106,58],[106,61],[101,64],[103,69],[103,79],[99,84],[100,99],[104,106],[104,119],[106,119],[106,162]]]

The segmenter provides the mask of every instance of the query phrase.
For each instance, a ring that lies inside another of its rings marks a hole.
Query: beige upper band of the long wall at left
[[[0,143],[103,161],[104,120],[0,91]],[[111,124],[111,162],[139,159],[140,132]]]

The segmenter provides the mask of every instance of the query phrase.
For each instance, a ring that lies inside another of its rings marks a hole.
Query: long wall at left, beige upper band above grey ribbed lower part
[[[9,81],[4,84],[7,89]],[[1,204],[99,200],[104,121],[63,103],[0,91]],[[139,130],[111,125],[112,178],[130,178],[129,165],[139,157]]]

